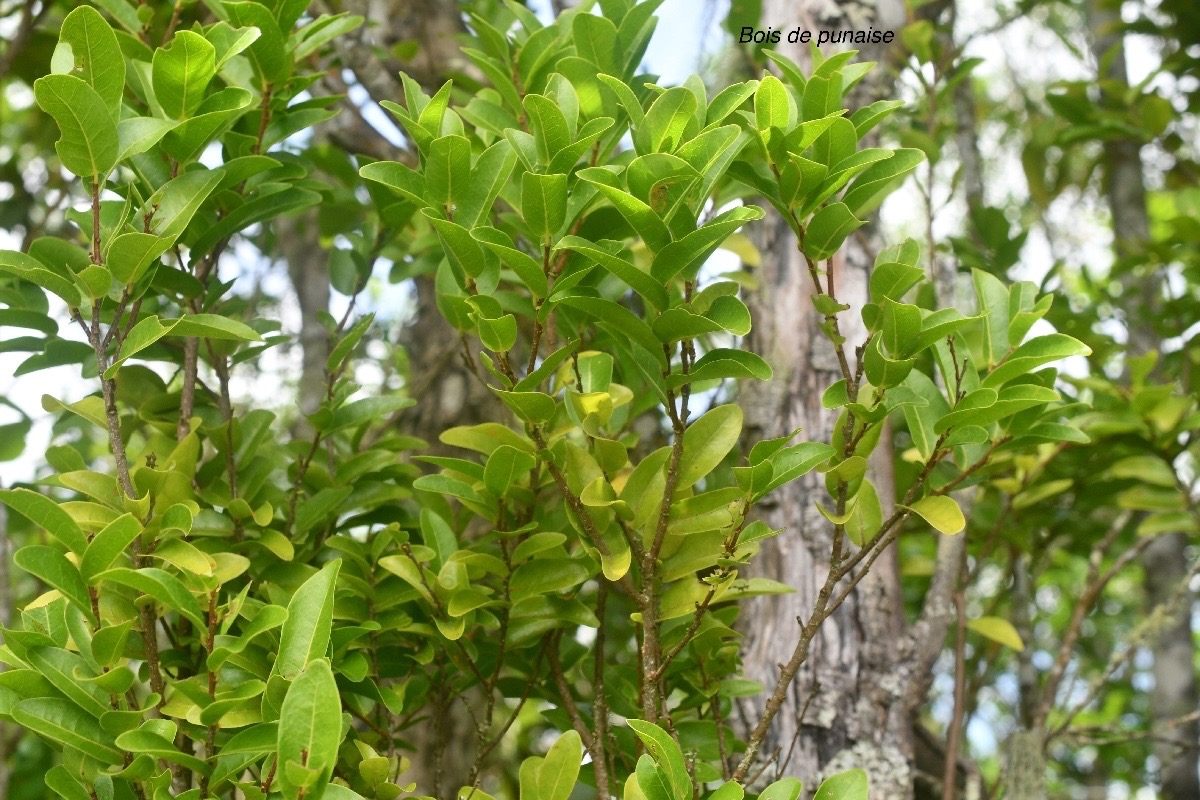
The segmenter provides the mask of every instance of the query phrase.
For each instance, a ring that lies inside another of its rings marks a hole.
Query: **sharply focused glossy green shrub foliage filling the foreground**
[[[518,723],[563,732],[521,765],[522,800],[576,782],[739,800],[808,643],[900,527],[958,534],[954,492],[997,449],[1082,438],[1038,369],[1086,348],[1027,338],[1049,308],[1032,284],[978,272],[979,314],[930,308],[906,241],[880,253],[864,306],[836,296],[846,237],[922,161],[860,146],[898,103],[845,108],[870,68],[852,54],[665,88],[636,74],[654,4],[550,25],[514,4],[503,29],[473,20],[464,52],[490,85],[461,98],[406,79],[385,104],[408,161],[347,173],[295,143],[340,100],[313,95],[310,56],[360,20],[214,1],[218,22],[154,47],[132,5],[98,5],[67,16],[35,84],[86,196],[79,235],[0,252],[2,299],[41,339],[29,369],[78,363],[98,386],[47,409],[107,443],[55,446],[41,486],[0,494],[46,534],[16,553],[44,591],[4,631],[0,717],[62,751],[46,780],[64,798],[391,800],[413,790],[406,732],[461,702],[474,764],[438,792],[486,800],[479,777]],[[744,287],[706,264],[762,199],[796,233],[842,368],[830,441],[742,437],[736,384],[772,369],[739,348]],[[427,432],[448,455],[420,455],[390,425],[420,398],[355,384],[372,318],[353,303],[329,320],[306,432],[233,407],[230,372],[287,337],[218,261],[335,200],[356,209],[335,282],[358,295],[382,253],[431,265],[508,425]],[[851,313],[863,341],[841,333]],[[893,415],[920,463],[895,499],[868,475]],[[665,446],[634,431],[647,416]],[[780,533],[755,505],[812,470],[826,589],[761,687],[739,678],[738,601],[788,588],[744,575]],[[737,729],[732,698],[760,692],[761,721]],[[817,796],[865,798],[866,776]]]

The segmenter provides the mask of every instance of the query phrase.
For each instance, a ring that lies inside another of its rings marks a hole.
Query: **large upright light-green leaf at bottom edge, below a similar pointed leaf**
[[[320,800],[342,744],[342,702],[329,661],[310,663],[288,687],[280,710],[278,787],[287,800]],[[290,764],[318,774],[308,787],[293,780]]]

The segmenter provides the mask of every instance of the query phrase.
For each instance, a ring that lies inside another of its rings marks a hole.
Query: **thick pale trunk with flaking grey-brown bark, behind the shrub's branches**
[[[762,19],[788,31],[895,29],[904,22],[901,4],[818,2],[767,0]],[[779,49],[805,65],[803,46]],[[863,59],[882,61],[882,53],[864,48]],[[850,102],[860,106],[890,94],[884,68],[872,71]],[[762,266],[760,289],[748,300],[755,329],[748,345],[775,371],[774,380],[742,389],[746,428],[751,440],[779,437],[797,427],[804,438],[828,440],[835,416],[822,408],[821,395],[841,378],[833,348],[821,333],[821,317],[810,300],[806,267],[796,237],[775,213],[760,223]],[[877,246],[869,225],[847,240],[834,259],[838,300],[851,309],[840,315],[842,333],[860,343],[864,330],[859,311],[866,297],[870,265]],[[872,480],[884,504],[894,501],[890,446],[884,437],[872,464]],[[755,561],[758,575],[796,588],[791,595],[756,599],[743,610],[746,636],[744,662],[749,678],[766,686],[778,678],[776,664],[787,661],[799,633],[797,618],[808,619],[829,565],[832,525],[815,501],[826,500],[823,480],[816,474],[778,491],[761,506],[762,519],[787,531],[763,547]],[[871,798],[894,800],[912,793],[911,716],[895,675],[895,645],[904,630],[902,602],[894,549],[884,554],[858,590],[822,626],[806,663],[797,674],[762,758],[775,758],[763,781],[788,775],[802,778],[809,790],[821,778],[840,770],[862,768],[871,780]],[[744,703],[742,718],[752,726],[761,702]],[[751,774],[754,774],[751,771]]]

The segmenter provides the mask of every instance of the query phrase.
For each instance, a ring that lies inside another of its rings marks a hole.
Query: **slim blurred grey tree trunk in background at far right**
[[[1093,53],[1104,78],[1128,85],[1120,17],[1104,0],[1088,7]],[[1115,254],[1132,261],[1150,235],[1146,212],[1145,172],[1138,142],[1117,139],[1104,144],[1104,192],[1112,216]],[[1162,305],[1160,279],[1153,269],[1129,271],[1122,303],[1129,332],[1128,353],[1139,356],[1160,345],[1154,323]],[[1174,587],[1187,571],[1188,539],[1183,534],[1160,535],[1146,548],[1146,603],[1150,610],[1170,599]],[[1190,604],[1190,603],[1189,603]],[[1151,693],[1152,724],[1164,740],[1156,745],[1162,764],[1159,778],[1163,800],[1200,798],[1200,723],[1171,724],[1200,706],[1196,688],[1192,615],[1177,614],[1156,638],[1154,690]]]

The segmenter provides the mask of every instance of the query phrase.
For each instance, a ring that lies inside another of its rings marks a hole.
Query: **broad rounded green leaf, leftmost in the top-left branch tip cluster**
[[[58,122],[54,149],[62,166],[80,178],[103,180],[116,166],[120,137],[104,100],[74,76],[43,76],[34,82],[42,110]]]

